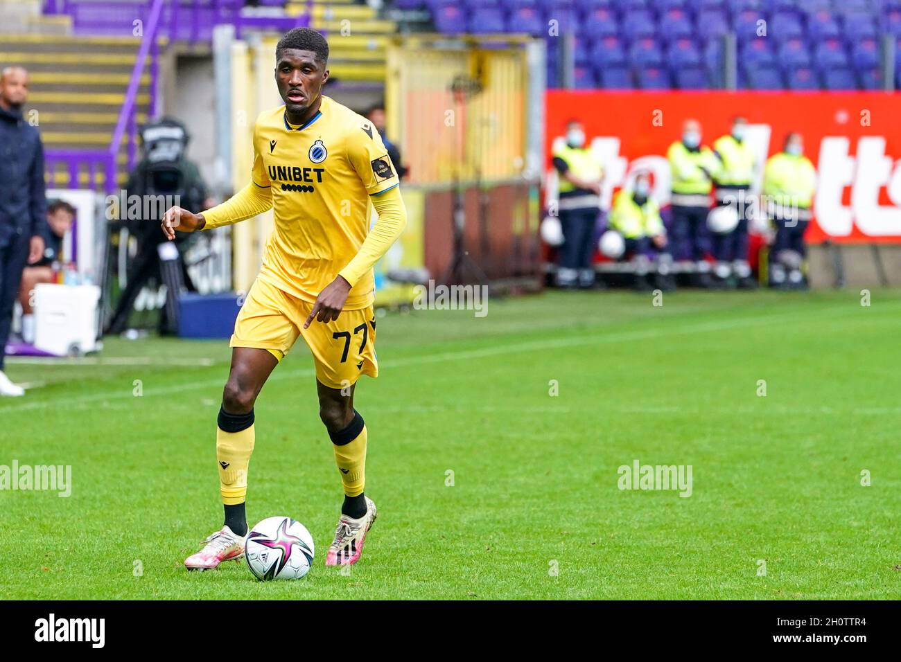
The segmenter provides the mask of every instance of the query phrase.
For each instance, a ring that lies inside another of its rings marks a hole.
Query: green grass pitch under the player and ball
[[[40,387],[0,402],[0,465],[71,465],[73,486],[0,492],[0,594],[897,599],[899,319],[889,290],[869,306],[854,291],[548,293],[493,299],[482,319],[387,313],[381,375],[356,398],[379,519],[345,574],[323,565],[341,487],[298,344],[257,402],[248,516],[304,522],[316,558],[265,584],[243,562],[182,566],[222,523],[226,341],[11,362]],[[691,465],[692,494],[620,490],[636,459]]]

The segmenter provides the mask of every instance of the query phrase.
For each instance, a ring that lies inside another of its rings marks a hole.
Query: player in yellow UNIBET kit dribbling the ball
[[[278,41],[275,75],[285,105],[257,119],[250,184],[203,213],[173,207],[161,223],[171,240],[175,231],[216,228],[270,208],[275,213],[230,343],[232,367],[216,430],[225,521],[186,559],[189,569],[214,568],[244,552],[253,404],[298,336],[313,353],[319,413],[344,487],[325,565],[355,563],[376,519],[376,504],[363,494],[367,430],[353,393],[360,374],[378,376],[372,266],[404,230],[406,211],[378,131],[321,94],[328,54],[323,35],[309,28]],[[371,230],[370,201],[378,212]]]

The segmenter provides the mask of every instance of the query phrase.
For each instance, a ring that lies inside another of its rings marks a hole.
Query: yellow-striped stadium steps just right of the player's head
[[[343,80],[384,82],[387,40],[397,32],[394,21],[379,19],[377,10],[369,5],[356,5],[353,0],[314,2],[312,7],[306,2],[285,5],[286,14],[291,16],[307,11],[311,14],[311,27],[329,37],[332,76]]]

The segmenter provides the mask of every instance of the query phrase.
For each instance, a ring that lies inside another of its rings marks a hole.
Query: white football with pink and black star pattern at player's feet
[[[260,581],[300,579],[313,564],[313,536],[290,517],[267,517],[247,534],[244,556]]]

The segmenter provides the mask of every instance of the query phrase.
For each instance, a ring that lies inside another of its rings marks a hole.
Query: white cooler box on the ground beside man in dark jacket
[[[34,347],[60,357],[94,351],[97,344],[97,303],[94,285],[34,287]]]

